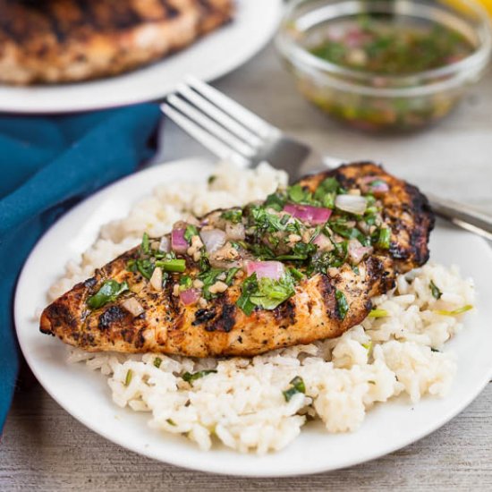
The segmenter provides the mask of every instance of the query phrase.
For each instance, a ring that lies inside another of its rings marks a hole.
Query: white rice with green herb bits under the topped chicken
[[[285,182],[286,175],[268,165],[244,171],[222,164],[209,184],[160,185],[127,218],[105,225],[81,262],[67,265],[49,296],[55,299],[140,242],[144,231],[166,233],[182,216],[262,199]],[[441,299],[432,296],[430,280],[443,291]],[[90,369],[99,369],[108,377],[114,402],[148,412],[152,428],[182,434],[205,450],[220,441],[240,452],[264,454],[292,442],[308,417],[322,420],[328,432],[353,431],[374,403],[399,394],[409,403],[427,394],[444,396],[456,364],[452,354],[440,351],[462,323],[461,317],[434,311],[455,310],[473,300],[471,280],[463,280],[456,267],[429,264],[400,276],[393,293],[374,300],[389,316],[367,318],[333,340],[253,359],[198,360],[72,349],[69,361],[86,361]],[[154,364],[157,357],[162,360],[159,368]],[[126,386],[129,369],[132,377]],[[216,373],[192,386],[182,379],[186,371],[201,369]],[[296,376],[302,377],[306,394],[294,394],[286,402],[283,391]]]

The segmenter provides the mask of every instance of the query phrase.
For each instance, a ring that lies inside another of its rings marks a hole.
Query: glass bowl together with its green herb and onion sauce
[[[298,0],[276,45],[298,89],[363,130],[408,130],[447,115],[478,81],[492,37],[471,0]]]

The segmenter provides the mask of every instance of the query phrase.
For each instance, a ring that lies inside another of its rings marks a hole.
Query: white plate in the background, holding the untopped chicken
[[[282,0],[235,0],[229,24],[163,60],[115,77],[15,87],[0,85],[0,111],[67,113],[163,98],[186,75],[212,81],[246,62],[267,44],[282,13]]]

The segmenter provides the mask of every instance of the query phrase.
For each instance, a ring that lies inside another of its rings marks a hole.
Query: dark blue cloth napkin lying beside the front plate
[[[24,261],[74,203],[151,157],[158,119],[158,106],[150,104],[70,116],[0,115],[0,432],[19,370],[13,292]]]

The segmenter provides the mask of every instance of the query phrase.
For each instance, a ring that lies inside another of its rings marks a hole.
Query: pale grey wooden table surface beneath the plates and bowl
[[[410,135],[351,131],[306,103],[267,47],[216,87],[320,151],[373,158],[424,189],[492,213],[492,74],[451,117]],[[203,154],[172,124],[159,160]],[[490,268],[490,266],[488,266]],[[492,352],[491,352],[492,353]],[[491,355],[492,364],[492,355]],[[287,479],[183,470],[107,442],[40,387],[16,394],[0,445],[0,490],[492,490],[492,384],[432,435],[351,469]]]

